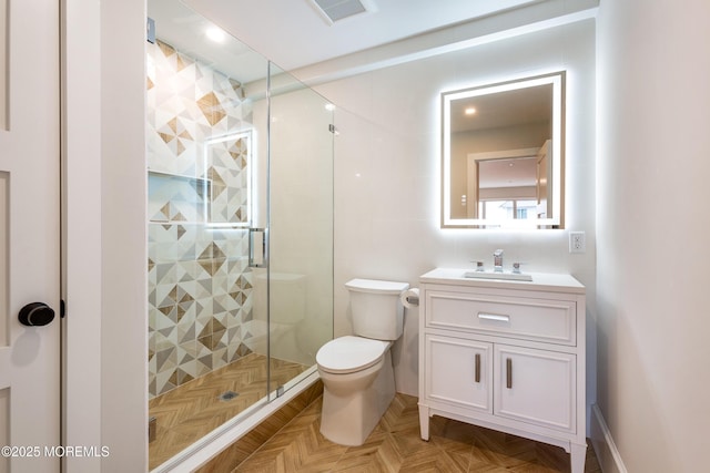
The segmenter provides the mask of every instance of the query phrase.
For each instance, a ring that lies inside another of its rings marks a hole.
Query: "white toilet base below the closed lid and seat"
[[[366,376],[365,372],[363,376]],[[329,389],[329,381],[338,384],[338,380],[328,378],[341,376],[343,374],[321,374],[324,385],[321,433],[331,442],[341,445],[362,445],[395,397],[392,354],[387,350],[382,368],[373,373],[374,380],[364,389],[347,390],[341,389],[342,385]]]

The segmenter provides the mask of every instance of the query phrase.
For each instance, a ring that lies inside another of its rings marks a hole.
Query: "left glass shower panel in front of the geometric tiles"
[[[254,350],[254,234],[267,198],[251,82],[268,63],[181,2],[150,0],[146,44],[150,469],[263,402]],[[219,58],[220,61],[215,61]],[[261,195],[260,195],[261,194]],[[245,374],[246,373],[246,374]]]

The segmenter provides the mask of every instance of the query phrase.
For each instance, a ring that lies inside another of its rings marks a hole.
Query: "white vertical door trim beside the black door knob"
[[[101,439],[101,153],[99,43],[83,41],[100,33],[97,1],[63,3],[62,174],[63,274],[62,439],[92,445]],[[88,21],[89,19],[89,21]],[[87,133],[89,132],[89,133]],[[85,255],[95,257],[87,258]],[[97,471],[100,459],[64,461],[65,471]]]

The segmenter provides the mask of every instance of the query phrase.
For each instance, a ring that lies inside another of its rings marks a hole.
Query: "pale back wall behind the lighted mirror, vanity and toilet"
[[[345,281],[408,281],[435,267],[525,261],[562,271],[595,300],[595,27],[587,20],[325,83],[335,123],[335,335],[349,333]],[[439,228],[439,94],[445,90],[566,69],[566,230]],[[587,253],[568,253],[568,230],[587,233]],[[417,311],[395,346],[397,390],[417,392]],[[594,347],[594,343],[590,343]],[[594,353],[592,353],[594,358]],[[594,399],[594,370],[590,370]]]

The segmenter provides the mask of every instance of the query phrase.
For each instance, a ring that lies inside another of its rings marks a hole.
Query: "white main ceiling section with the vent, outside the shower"
[[[285,70],[539,1],[369,0],[375,12],[328,25],[310,0],[184,0]]]

